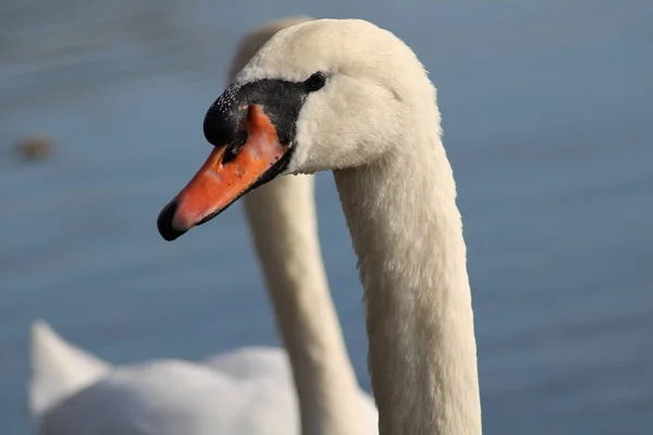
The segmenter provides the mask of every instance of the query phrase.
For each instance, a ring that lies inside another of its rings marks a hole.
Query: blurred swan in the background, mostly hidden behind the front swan
[[[275,32],[307,20],[254,30],[232,71]],[[41,435],[378,433],[374,403],[358,386],[329,293],[313,178],[280,178],[244,206],[287,352],[246,347],[199,363],[112,366],[37,321],[29,400]]]

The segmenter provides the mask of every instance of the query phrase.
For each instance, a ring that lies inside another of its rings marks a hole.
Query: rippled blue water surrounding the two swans
[[[653,3],[60,0],[0,5],[0,425],[24,435],[41,318],[113,363],[279,344],[239,207],[175,244],[234,44],[366,17],[439,88],[469,247],[486,434],[653,431]],[[21,163],[42,132],[54,159]],[[333,179],[322,249],[361,384],[361,290]]]

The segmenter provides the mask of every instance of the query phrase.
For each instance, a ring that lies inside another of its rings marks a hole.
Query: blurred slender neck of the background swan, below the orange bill
[[[244,203],[291,359],[301,433],[361,434],[359,387],[320,253],[312,177],[280,177]]]

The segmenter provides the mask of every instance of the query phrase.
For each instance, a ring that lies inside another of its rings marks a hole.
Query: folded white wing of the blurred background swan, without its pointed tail
[[[41,435],[298,434],[292,384],[204,364],[127,365],[49,411]]]

